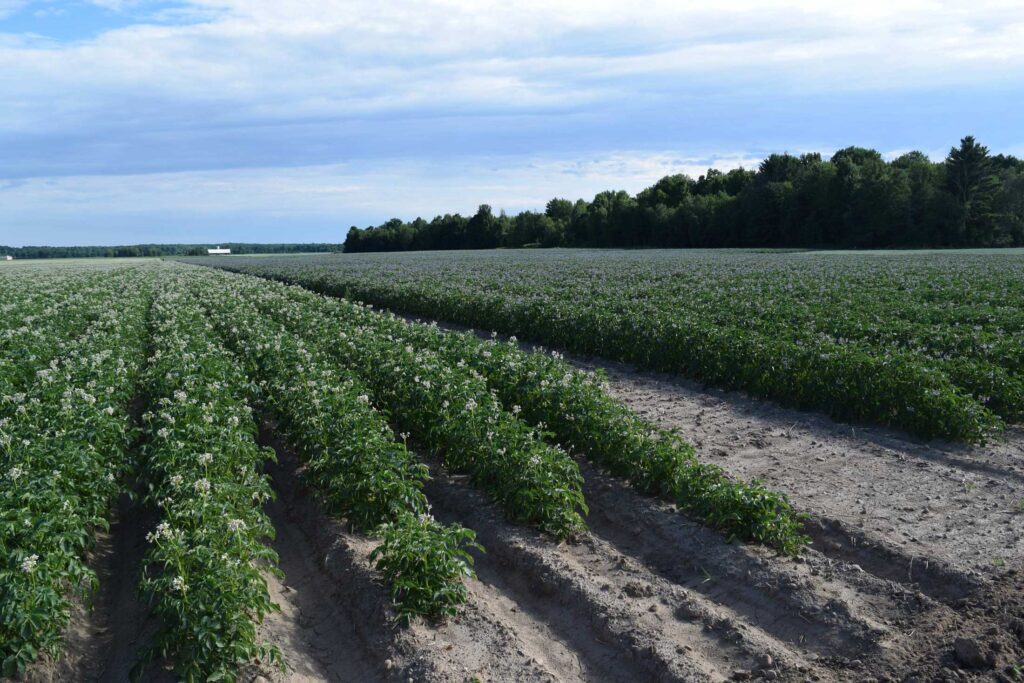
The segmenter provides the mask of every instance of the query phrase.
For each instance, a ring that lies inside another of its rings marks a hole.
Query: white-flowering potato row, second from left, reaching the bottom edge
[[[186,681],[234,680],[249,661],[282,664],[256,629],[278,609],[264,578],[280,573],[264,544],[273,452],[257,443],[243,368],[179,273],[164,274],[151,334],[141,477],[160,522],[141,589],[160,629],[135,674],[162,657]]]

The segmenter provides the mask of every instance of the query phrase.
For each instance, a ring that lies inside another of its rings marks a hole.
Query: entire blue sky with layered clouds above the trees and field
[[[1024,155],[1020,0],[0,0],[0,245],[341,242],[857,144]]]

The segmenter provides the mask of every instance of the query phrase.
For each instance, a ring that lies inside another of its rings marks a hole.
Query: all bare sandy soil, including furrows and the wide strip
[[[987,446],[924,443],[601,367],[614,395],[679,427],[702,459],[785,492],[811,547],[793,558],[727,543],[583,458],[590,532],[556,543],[428,461],[435,514],[475,529],[486,552],[459,617],[400,627],[369,560],[375,542],[323,512],[268,423],[280,462],[267,510],[286,575],[268,577],[282,610],[261,634],[286,670],[244,680],[1024,680],[1020,429]],[[137,585],[140,551],[123,539],[138,536],[119,523],[101,541],[110,587],[76,617],[71,655],[38,680],[124,680],[145,632],[124,588]]]

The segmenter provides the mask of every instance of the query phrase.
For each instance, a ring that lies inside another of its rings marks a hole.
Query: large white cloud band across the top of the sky
[[[1001,0],[190,6],[216,18],[82,42],[0,44],[0,128],[101,123],[141,98],[217,103],[224,121],[259,121],[580,105],[655,98],[673,82],[777,93],[976,84],[1024,72],[1024,5]]]

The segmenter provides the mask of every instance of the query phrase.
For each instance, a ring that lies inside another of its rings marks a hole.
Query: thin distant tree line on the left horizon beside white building
[[[329,243],[258,244],[228,242],[219,245],[124,245],[119,247],[2,247],[0,258],[96,258],[138,256],[206,256],[215,246],[230,249],[232,254],[296,254],[341,251],[342,246]]]

